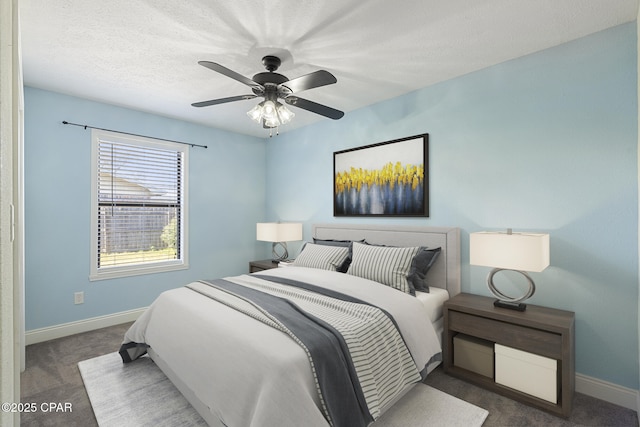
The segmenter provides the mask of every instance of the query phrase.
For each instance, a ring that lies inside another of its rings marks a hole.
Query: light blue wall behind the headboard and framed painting
[[[626,24],[274,137],[267,216],[306,237],[314,222],[458,226],[463,291],[483,295],[469,233],[548,232],[530,303],[575,311],[577,372],[638,389],[636,52]],[[333,217],[334,151],[424,132],[430,218]]]

